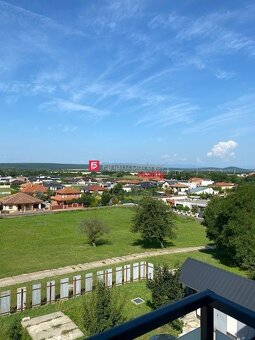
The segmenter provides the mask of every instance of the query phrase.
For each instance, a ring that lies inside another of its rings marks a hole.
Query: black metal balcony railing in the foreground
[[[178,302],[168,304],[153,312],[93,335],[91,340],[134,339],[153,329],[165,325],[177,318],[201,308],[201,340],[213,340],[214,313],[217,310],[232,316],[247,326],[255,327],[255,312],[233,301],[227,300],[210,290],[190,295]]]

